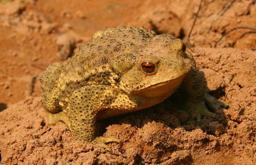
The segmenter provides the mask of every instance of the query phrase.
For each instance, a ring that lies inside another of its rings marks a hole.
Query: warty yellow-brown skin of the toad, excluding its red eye
[[[41,77],[50,123],[64,121],[76,139],[92,141],[97,120],[161,103],[180,84],[193,112],[214,116],[204,103],[202,77],[184,50],[180,39],[143,27],[96,32],[65,66],[53,63]],[[155,71],[144,72],[142,62],[155,64]]]

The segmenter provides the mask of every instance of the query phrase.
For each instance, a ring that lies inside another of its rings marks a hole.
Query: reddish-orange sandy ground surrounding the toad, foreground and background
[[[0,165],[253,165],[256,163],[255,0],[14,0],[0,2]],[[48,125],[39,77],[104,27],[145,26],[182,38],[206,77],[208,93],[228,103],[217,118],[164,103],[102,121],[101,136],[122,145],[74,141]],[[227,35],[226,32],[230,31]],[[219,40],[224,36],[221,40]],[[32,90],[33,89],[33,90]]]

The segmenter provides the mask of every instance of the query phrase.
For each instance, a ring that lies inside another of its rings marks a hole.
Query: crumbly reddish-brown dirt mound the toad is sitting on
[[[238,49],[197,48],[193,53],[209,91],[230,104],[203,117],[175,109],[168,101],[103,121],[103,136],[113,154],[76,142],[65,124],[48,126],[40,97],[29,97],[0,113],[2,162],[13,164],[253,164],[256,161],[256,53]],[[232,68],[232,69],[230,69]],[[212,79],[212,77],[221,77]],[[113,124],[114,123],[114,124]]]

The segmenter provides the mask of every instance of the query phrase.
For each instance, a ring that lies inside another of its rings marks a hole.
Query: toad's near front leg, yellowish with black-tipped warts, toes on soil
[[[115,96],[110,88],[106,85],[83,86],[71,95],[70,125],[76,140],[93,141],[96,138],[97,114],[111,104]],[[103,146],[108,142],[120,141],[115,138],[97,138],[95,141]]]

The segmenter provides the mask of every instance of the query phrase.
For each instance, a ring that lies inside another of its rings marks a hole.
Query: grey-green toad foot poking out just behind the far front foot
[[[219,110],[221,108],[226,108],[228,107],[227,103],[221,102],[217,100],[215,97],[212,97],[211,95],[205,93],[204,94],[204,101],[206,105],[215,112],[216,110]]]

